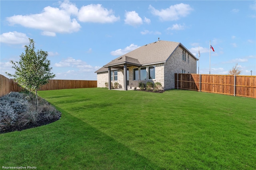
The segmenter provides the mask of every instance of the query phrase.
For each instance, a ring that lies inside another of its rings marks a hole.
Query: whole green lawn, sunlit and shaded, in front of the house
[[[39,91],[59,121],[0,134],[0,166],[256,169],[256,99],[170,90]]]

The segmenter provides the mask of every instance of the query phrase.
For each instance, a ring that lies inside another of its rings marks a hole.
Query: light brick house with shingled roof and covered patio
[[[111,89],[118,82],[127,90],[139,82],[160,82],[165,90],[174,89],[174,73],[196,73],[198,59],[179,42],[158,42],[143,45],[126,53],[97,71],[97,87]]]

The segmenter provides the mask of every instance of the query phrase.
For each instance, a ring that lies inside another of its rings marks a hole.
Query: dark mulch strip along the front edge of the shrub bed
[[[54,118],[54,119],[46,119],[46,120],[40,120],[40,121],[37,121],[36,123],[30,123],[28,125],[25,125],[25,126],[11,126],[11,127],[8,127],[6,129],[1,129],[0,130],[0,133],[7,133],[7,132],[14,132],[14,131],[21,131],[21,130],[25,130],[25,129],[28,129],[28,128],[34,128],[34,127],[40,127],[40,126],[43,126],[43,125],[47,125],[47,124],[50,124],[50,123],[53,123],[55,121],[58,121],[60,118]]]

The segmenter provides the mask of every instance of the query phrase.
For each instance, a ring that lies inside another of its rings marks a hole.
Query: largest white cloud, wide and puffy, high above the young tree
[[[7,17],[10,25],[21,25],[26,28],[42,30],[42,35],[56,36],[56,33],[72,33],[80,30],[81,26],[76,19],[71,19],[70,14],[74,10],[74,5],[64,1],[60,5],[61,9],[47,6],[40,14],[30,14],[26,16],[14,15]]]

